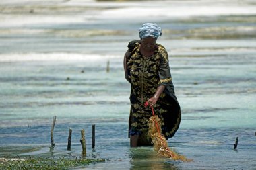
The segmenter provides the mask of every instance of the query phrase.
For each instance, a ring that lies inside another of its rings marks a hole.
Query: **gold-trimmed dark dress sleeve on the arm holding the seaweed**
[[[168,53],[164,48],[160,48],[160,65],[159,65],[159,85],[167,85],[172,81],[170,74],[170,66],[168,60]]]

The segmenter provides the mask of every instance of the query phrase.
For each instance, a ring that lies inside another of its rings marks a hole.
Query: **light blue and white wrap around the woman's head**
[[[139,38],[153,37],[158,38],[162,35],[162,28],[154,23],[145,23],[139,28]]]

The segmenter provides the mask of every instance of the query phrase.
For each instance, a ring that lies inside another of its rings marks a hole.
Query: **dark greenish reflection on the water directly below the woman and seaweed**
[[[168,158],[158,157],[152,147],[131,148],[129,151],[131,170],[179,169],[179,163]]]

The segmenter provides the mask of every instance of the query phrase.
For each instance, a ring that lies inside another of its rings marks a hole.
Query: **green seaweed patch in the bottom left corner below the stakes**
[[[4,157],[0,158],[0,169],[70,169],[90,163],[105,162],[105,159],[87,159],[84,157]]]

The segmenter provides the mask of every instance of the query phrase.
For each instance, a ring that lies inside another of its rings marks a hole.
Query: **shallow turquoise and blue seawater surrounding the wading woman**
[[[79,157],[85,129],[88,157],[106,162],[76,169],[255,169],[255,3],[164,2],[1,2],[0,156]],[[123,55],[143,22],[163,28],[158,43],[168,51],[182,109],[168,144],[189,163],[129,147]]]

